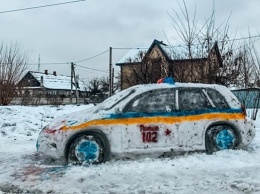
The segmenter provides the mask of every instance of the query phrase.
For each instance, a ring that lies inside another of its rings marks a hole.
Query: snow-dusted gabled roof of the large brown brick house
[[[146,54],[149,54],[152,49],[154,48],[154,46],[157,46],[161,52],[164,54],[164,56],[168,59],[168,60],[186,60],[189,59],[188,55],[185,54],[187,53],[187,48],[185,46],[169,46],[165,43],[163,43],[162,41],[158,41],[158,40],[154,40],[153,43],[151,44],[151,46],[148,48],[133,48],[130,49],[117,63],[116,65],[123,65],[123,64],[128,64],[129,63],[129,59],[137,59],[137,54],[142,51]],[[220,59],[220,53],[219,53],[219,49],[217,46],[217,43],[214,44],[213,48],[216,50],[216,54],[217,57]],[[205,58],[206,59],[206,58]],[[138,59],[140,60],[140,59]],[[135,62],[141,62],[135,60]],[[220,62],[222,62],[222,60],[220,60]]]

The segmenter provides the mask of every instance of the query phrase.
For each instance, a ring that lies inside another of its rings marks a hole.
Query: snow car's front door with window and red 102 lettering
[[[123,109],[128,115],[124,142],[126,151],[170,149],[178,134],[172,118],[176,111],[175,89],[156,89],[133,98]]]

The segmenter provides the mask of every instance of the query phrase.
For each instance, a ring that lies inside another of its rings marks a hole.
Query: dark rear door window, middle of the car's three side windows
[[[181,88],[179,89],[178,95],[180,110],[203,110],[212,108],[207,96],[200,88]]]

